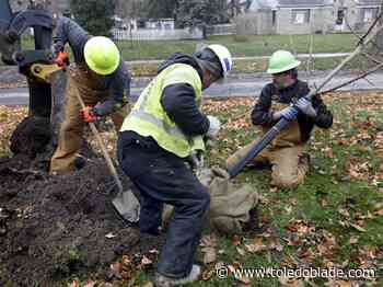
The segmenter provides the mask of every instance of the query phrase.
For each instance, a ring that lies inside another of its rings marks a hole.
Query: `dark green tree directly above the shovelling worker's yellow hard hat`
[[[111,36],[115,0],[71,0],[76,21],[92,35]]]

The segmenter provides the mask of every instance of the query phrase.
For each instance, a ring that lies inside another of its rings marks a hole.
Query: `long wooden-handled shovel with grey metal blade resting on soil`
[[[80,105],[82,108],[85,107],[84,102],[82,101],[80,94],[76,93],[77,97],[80,102]],[[89,123],[89,126],[91,127],[91,130],[93,133],[93,135],[95,136],[100,148],[102,150],[102,153],[104,156],[104,159],[106,160],[106,165],[109,169],[116,185],[117,185],[117,196],[112,200],[112,205],[115,208],[115,210],[117,211],[117,214],[126,221],[128,222],[137,222],[139,220],[139,216],[140,216],[140,203],[138,202],[138,199],[136,198],[136,196],[134,195],[134,193],[130,190],[124,191],[123,190],[123,184],[118,177],[116,168],[113,165],[112,159],[109,157],[109,154],[107,153],[107,150],[105,148],[105,145],[103,142],[103,139],[100,136],[100,133],[96,128],[96,126],[94,125],[94,123]]]

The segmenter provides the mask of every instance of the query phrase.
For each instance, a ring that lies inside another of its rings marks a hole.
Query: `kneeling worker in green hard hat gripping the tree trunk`
[[[310,89],[306,82],[298,79],[300,61],[287,50],[277,50],[269,59],[267,73],[272,82],[266,84],[252,112],[252,122],[265,135],[282,117],[290,122],[266,147],[253,163],[271,164],[271,184],[281,188],[298,187],[309,171],[309,154],[303,153],[304,145],[314,126],[329,128],[333,115],[318,95],[307,100]],[[289,108],[295,104],[295,110]],[[259,138],[235,152],[227,161],[230,169],[257,145]]]

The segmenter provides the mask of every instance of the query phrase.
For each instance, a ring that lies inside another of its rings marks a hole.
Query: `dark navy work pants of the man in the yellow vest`
[[[141,195],[141,232],[155,234],[163,204],[174,206],[158,272],[174,278],[187,276],[199,245],[209,194],[181,158],[160,148],[152,138],[123,131],[117,150],[120,167]]]

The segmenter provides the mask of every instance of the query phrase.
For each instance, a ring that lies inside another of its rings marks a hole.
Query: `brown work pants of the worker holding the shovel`
[[[97,81],[94,74],[91,74],[86,68],[76,66],[69,68],[66,93],[65,120],[60,127],[58,147],[50,160],[50,173],[69,172],[76,169],[74,160],[82,145],[82,133],[85,126],[85,122],[80,117],[81,105],[77,94],[88,106],[95,106],[111,96],[108,90],[102,87],[102,82]],[[128,105],[111,115],[116,130],[119,130],[127,113]]]

